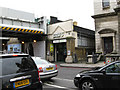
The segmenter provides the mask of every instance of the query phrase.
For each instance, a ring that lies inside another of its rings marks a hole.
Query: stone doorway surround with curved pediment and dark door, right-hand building
[[[116,51],[116,31],[112,29],[103,29],[98,32],[101,38],[102,52],[104,54]]]

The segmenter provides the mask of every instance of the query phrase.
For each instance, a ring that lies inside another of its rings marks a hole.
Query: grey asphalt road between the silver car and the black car
[[[67,68],[58,66],[58,76],[43,81],[43,90],[78,90],[73,78],[77,73],[87,68]]]

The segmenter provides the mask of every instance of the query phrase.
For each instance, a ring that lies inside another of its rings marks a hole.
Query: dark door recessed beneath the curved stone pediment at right
[[[108,54],[113,51],[113,37],[104,37],[104,53]]]

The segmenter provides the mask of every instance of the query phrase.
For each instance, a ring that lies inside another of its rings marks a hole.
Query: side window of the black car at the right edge
[[[120,73],[120,63],[115,63],[106,68],[106,73]]]

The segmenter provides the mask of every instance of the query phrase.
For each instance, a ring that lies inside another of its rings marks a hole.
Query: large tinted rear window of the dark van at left
[[[35,65],[30,57],[1,58],[2,75],[31,71]]]

